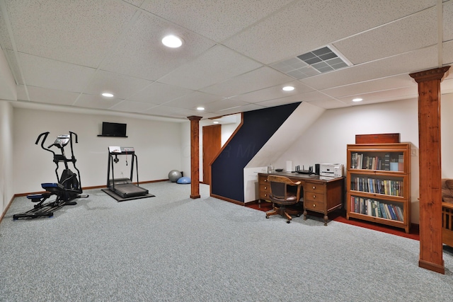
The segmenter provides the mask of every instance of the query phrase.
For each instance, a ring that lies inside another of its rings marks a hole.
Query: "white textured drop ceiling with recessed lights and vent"
[[[0,0],[0,99],[187,121],[416,98],[408,74],[453,64],[452,24],[453,0]],[[325,50],[344,63],[302,60]]]

